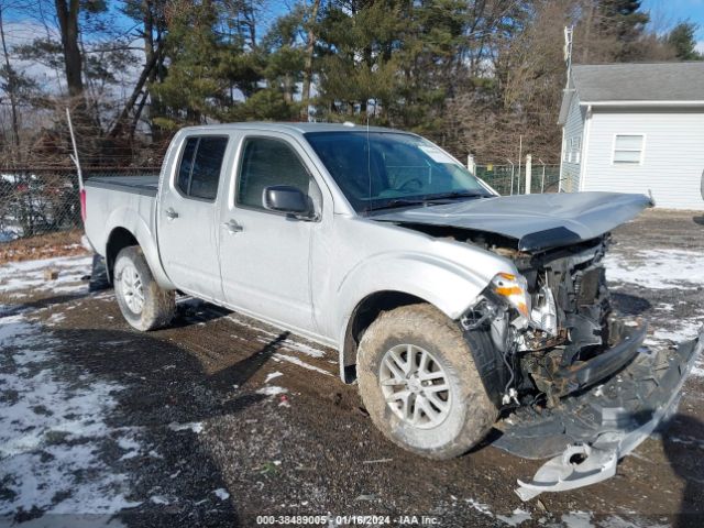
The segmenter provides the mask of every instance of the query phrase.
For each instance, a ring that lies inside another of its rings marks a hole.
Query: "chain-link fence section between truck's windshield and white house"
[[[526,166],[477,165],[475,175],[502,195],[526,194]],[[558,193],[560,165],[532,164],[530,193]]]

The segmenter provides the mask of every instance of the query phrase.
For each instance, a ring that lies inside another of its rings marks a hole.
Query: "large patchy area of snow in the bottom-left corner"
[[[129,501],[128,475],[101,459],[111,442],[139,452],[139,435],[106,417],[123,387],[61,363],[61,343],[23,315],[0,318],[0,516],[37,508],[111,514]]]

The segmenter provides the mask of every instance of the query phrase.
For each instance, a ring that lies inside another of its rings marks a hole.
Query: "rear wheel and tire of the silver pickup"
[[[113,276],[120,311],[132,328],[145,332],[172,321],[176,314],[176,295],[156,284],[140,246],[120,251]]]

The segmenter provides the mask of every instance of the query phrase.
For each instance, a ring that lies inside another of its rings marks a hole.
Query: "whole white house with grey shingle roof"
[[[559,123],[560,190],[704,210],[704,62],[575,65]]]

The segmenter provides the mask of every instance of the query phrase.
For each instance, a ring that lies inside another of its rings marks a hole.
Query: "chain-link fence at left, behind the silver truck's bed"
[[[158,175],[158,167],[89,167],[91,176]],[[81,227],[78,176],[66,167],[0,169],[0,242]]]

